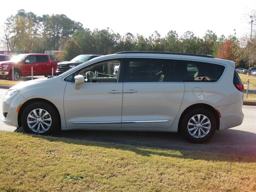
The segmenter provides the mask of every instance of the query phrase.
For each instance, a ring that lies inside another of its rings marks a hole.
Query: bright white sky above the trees
[[[256,0],[5,0],[0,24],[20,9],[38,16],[65,14],[90,30],[109,27],[121,35],[148,37],[157,30],[164,37],[176,30],[181,36],[190,30],[202,37],[212,30],[228,36],[236,29],[236,36],[242,37],[250,31],[248,15],[256,10]]]

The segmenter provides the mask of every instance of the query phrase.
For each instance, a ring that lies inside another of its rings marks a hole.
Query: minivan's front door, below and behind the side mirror
[[[66,126],[74,128],[120,128],[122,115],[123,83],[113,75],[112,63],[121,60],[104,61],[72,74],[64,93]],[[90,76],[86,77],[86,72]],[[74,86],[74,76],[81,74],[87,82]],[[89,79],[88,79],[89,78]]]

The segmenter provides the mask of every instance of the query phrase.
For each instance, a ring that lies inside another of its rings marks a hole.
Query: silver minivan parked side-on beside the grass
[[[180,131],[190,142],[202,143],[216,130],[242,124],[243,89],[232,61],[119,52],[60,76],[13,86],[4,97],[3,121],[35,134],[52,134],[59,127]]]

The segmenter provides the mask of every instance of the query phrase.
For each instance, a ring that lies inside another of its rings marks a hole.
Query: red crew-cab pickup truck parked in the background
[[[8,77],[12,80],[12,66],[14,66],[14,80],[21,76],[31,76],[31,67],[33,66],[33,75],[51,75],[52,68],[56,73],[58,62],[51,62],[47,54],[19,54],[10,61],[0,62],[0,77]]]

